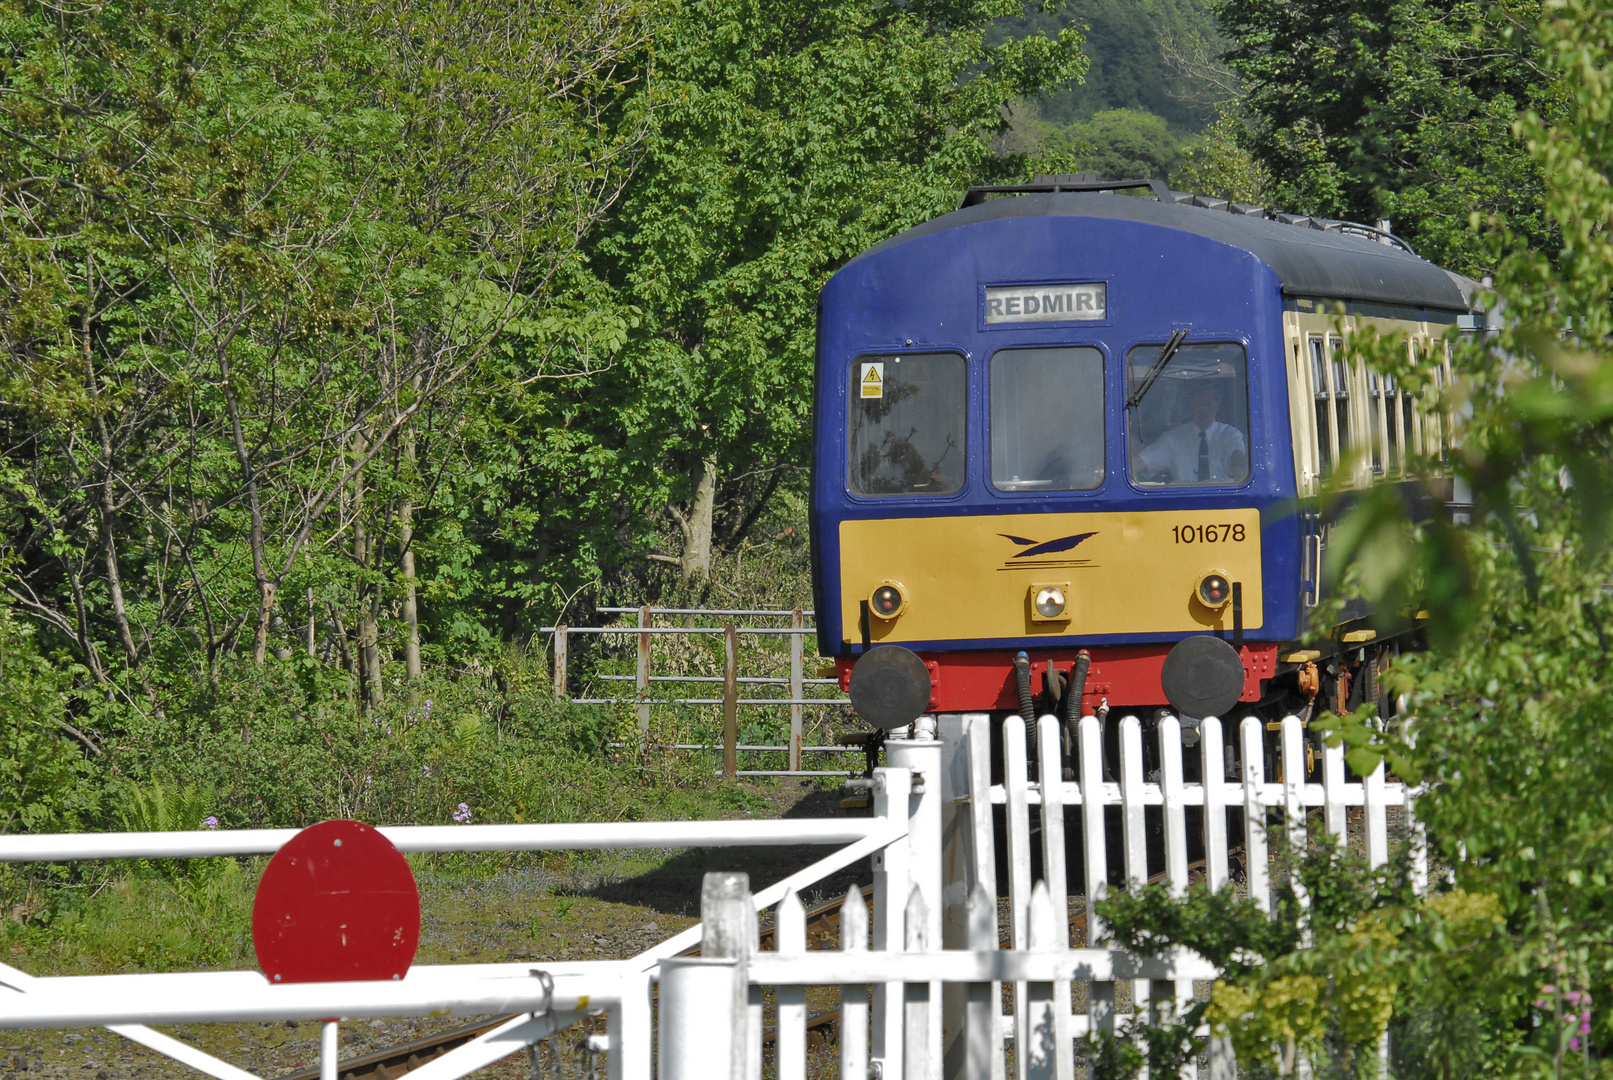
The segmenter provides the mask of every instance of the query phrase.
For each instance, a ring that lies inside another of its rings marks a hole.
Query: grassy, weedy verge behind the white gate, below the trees
[[[719,555],[703,585],[655,577],[619,588],[663,606],[810,606],[805,530],[771,532],[774,542]],[[661,638],[656,648],[671,650],[658,656],[656,671],[721,672],[719,640]],[[742,638],[742,648],[747,674],[789,671],[784,638]],[[808,674],[816,674],[810,640],[806,651]],[[65,809],[48,819],[35,812],[29,829],[198,829],[208,817],[235,829],[302,827],[327,817],[448,824],[465,811],[476,824],[697,820],[773,814],[781,795],[800,795],[794,783],[784,790],[721,782],[713,775],[718,754],[608,751],[610,743],[636,743],[636,714],[556,703],[542,651],[510,648],[490,666],[440,666],[411,693],[397,692],[369,712],[305,659],[227,663],[218,685],[174,687],[161,712],[121,716],[119,733],[106,738],[100,758],[61,774],[52,798]],[[619,659],[602,653],[592,663],[603,671]],[[574,672],[586,669],[586,658],[574,659]],[[823,711],[808,741],[827,738],[839,721]],[[742,722],[747,741],[782,741],[787,712],[747,709]],[[652,737],[706,740],[718,725],[718,709],[658,708]],[[777,767],[773,759],[742,766]],[[35,811],[40,806],[35,798]],[[427,925],[465,928],[444,941],[427,935],[421,959],[440,962],[460,949],[458,938],[486,937],[494,924],[529,927],[536,940],[556,927],[597,933],[611,919],[637,919],[626,911],[634,904],[611,906],[589,888],[645,875],[666,859],[666,853],[410,856]],[[0,866],[0,957],[39,975],[255,967],[252,896],[263,866],[263,859]]]

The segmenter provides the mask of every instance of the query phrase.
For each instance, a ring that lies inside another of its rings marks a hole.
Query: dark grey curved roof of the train
[[[1148,189],[1152,195],[1119,195],[1123,189]],[[1465,313],[1473,309],[1478,289],[1478,282],[1429,263],[1387,231],[1173,192],[1161,181],[1044,177],[971,187],[960,210],[876,243],[865,256],[942,229],[1007,218],[1105,218],[1179,229],[1248,251],[1276,271],[1290,297]]]

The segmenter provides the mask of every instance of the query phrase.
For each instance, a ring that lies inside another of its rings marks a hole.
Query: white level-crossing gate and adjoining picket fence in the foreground
[[[369,1019],[381,1016],[518,1012],[513,1020],[410,1074],[453,1080],[515,1053],[586,1014],[603,1012],[602,1040],[611,1080],[760,1080],[763,1027],[776,1028],[776,1075],[806,1075],[808,987],[839,988],[842,1080],[998,1080],[1013,1062],[1016,1080],[1076,1075],[1076,1040],[1124,1030],[1148,1011],[1165,1016],[1194,999],[1197,980],[1216,972],[1186,951],[1144,959],[1119,949],[1073,948],[1068,922],[1071,867],[1066,833],[1081,853],[1094,895],[1108,887],[1105,809],[1119,808],[1124,883],[1148,880],[1148,809],[1160,808],[1163,870],[1169,888],[1189,883],[1187,808],[1202,812],[1203,879],[1239,887],[1269,909],[1268,814],[1287,841],[1307,843],[1308,811],[1340,843],[1373,864],[1389,858],[1389,811],[1400,809],[1413,874],[1426,887],[1421,830],[1411,793],[1387,783],[1382,767],[1347,782],[1340,750],[1323,750],[1319,783],[1305,780],[1300,721],[1279,730],[1281,779],[1265,775],[1265,725],[1239,729],[1240,777],[1226,780],[1223,729],[1198,722],[1200,782],[1182,771],[1181,725],[1157,724],[1157,775],[1144,777],[1142,725],[1119,721],[1119,772],[1103,779],[1095,717],[1079,724],[1076,779],[1060,777],[1060,722],[1036,725],[1031,772],[1026,724],[1002,724],[1003,783],[990,783],[990,719],[984,714],[921,717],[887,741],[887,767],[873,779],[873,816],[824,820],[629,822],[600,825],[461,825],[382,829],[403,851],[513,851],[555,848],[669,848],[721,845],[834,845],[836,849],[782,882],[750,893],[742,875],[711,875],[703,922],[629,961],[416,966],[392,983],[273,987],[256,972],[197,972],[34,978],[0,966],[0,1028],[89,1027],[113,1030],[219,1080],[245,1070],[203,1054],[150,1024],[268,1019]],[[911,737],[916,735],[916,737]],[[1002,830],[994,808],[1002,806]],[[1350,814],[1348,808],[1361,808]],[[1245,872],[1234,882],[1227,820],[1244,835]],[[292,830],[205,833],[82,833],[3,837],[0,859],[184,858],[261,854]],[[1007,851],[1008,948],[998,948],[995,848]],[[1042,877],[1031,880],[1032,845]],[[829,875],[873,856],[873,911],[853,890],[842,909],[839,951],[810,951],[800,896]],[[1119,883],[1116,883],[1119,885]],[[1086,903],[1090,898],[1081,898]],[[1303,899],[1303,898],[1302,898]],[[755,912],[776,906],[777,951],[756,949]],[[1102,925],[1086,904],[1087,941]],[[866,935],[866,937],[865,937]],[[700,957],[679,957],[692,945]],[[656,983],[658,995],[656,995]],[[1086,985],[1086,1011],[1073,1007],[1073,983]],[[1132,1012],[1118,1011],[1129,985]],[[1005,1009],[1000,988],[1013,987]],[[765,1006],[766,988],[773,1004]],[[337,1024],[326,1025],[324,1074],[336,1077]],[[656,1061],[658,1048],[658,1061]],[[1015,1053],[1015,1051],[1021,1053]],[[1210,1077],[1232,1074],[1231,1054],[1210,1045]],[[1184,1070],[1190,1080],[1195,1067]]]

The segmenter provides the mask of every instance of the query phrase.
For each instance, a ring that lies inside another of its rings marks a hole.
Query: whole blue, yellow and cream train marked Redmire
[[[1298,642],[1326,522],[1292,508],[1324,480],[1410,488],[1413,467],[1429,490],[1442,339],[1474,289],[1387,222],[1158,181],[971,189],[821,295],[823,654],[874,719],[915,695],[1202,717],[1374,693],[1387,643],[1365,619]],[[1345,363],[1340,311],[1405,332],[1434,390]]]

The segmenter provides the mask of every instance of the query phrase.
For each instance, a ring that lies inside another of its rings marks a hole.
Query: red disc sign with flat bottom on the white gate
[[[273,983],[402,978],[419,946],[415,872],[363,822],[310,825],[263,870],[252,946]]]

